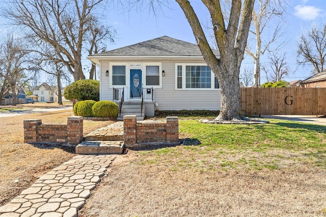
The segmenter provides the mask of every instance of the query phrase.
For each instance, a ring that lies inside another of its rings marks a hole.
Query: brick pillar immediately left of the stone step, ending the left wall
[[[83,117],[71,116],[67,121],[67,142],[69,145],[77,145],[84,140]]]

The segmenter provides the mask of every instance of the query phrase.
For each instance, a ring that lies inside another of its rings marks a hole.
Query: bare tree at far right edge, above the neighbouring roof
[[[311,64],[313,75],[325,70],[326,23],[321,28],[314,25],[302,33],[297,42],[296,54],[298,64]]]

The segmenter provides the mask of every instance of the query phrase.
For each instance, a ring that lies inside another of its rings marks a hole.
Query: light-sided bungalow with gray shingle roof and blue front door
[[[196,44],[163,36],[87,58],[100,68],[100,100],[121,103],[120,117],[221,108],[219,82]]]

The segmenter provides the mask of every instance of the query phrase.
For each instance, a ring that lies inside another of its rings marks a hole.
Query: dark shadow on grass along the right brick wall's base
[[[185,138],[185,139],[179,139],[178,143],[158,143],[158,142],[144,143],[128,149],[135,150],[135,151],[143,151],[143,150],[157,150],[161,148],[170,148],[170,147],[176,147],[180,145],[190,146],[190,145],[200,145],[200,144],[201,142],[198,139]]]

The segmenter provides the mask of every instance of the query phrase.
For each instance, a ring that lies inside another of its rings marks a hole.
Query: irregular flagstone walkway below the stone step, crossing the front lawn
[[[78,155],[0,207],[0,217],[74,217],[115,155]]]

